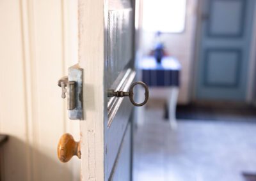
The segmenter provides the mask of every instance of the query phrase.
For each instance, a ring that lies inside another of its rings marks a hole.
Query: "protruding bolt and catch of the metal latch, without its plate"
[[[58,85],[61,87],[61,98],[66,98],[67,92],[67,103],[68,103],[68,110],[74,110],[76,108],[76,82],[75,81],[68,81],[67,76],[63,76],[58,81]]]

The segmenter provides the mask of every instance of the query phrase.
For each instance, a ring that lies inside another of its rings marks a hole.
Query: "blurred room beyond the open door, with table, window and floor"
[[[255,5],[136,1],[134,180],[256,180]]]

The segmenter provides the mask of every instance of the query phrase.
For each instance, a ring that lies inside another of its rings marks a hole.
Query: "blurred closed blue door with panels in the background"
[[[245,101],[255,0],[203,0],[196,99]]]

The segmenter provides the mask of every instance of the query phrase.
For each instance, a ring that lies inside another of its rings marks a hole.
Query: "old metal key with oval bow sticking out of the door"
[[[135,85],[138,85],[138,84],[142,85],[145,88],[145,100],[143,101],[143,103],[136,103],[133,99],[133,87]],[[122,97],[125,97],[125,96],[129,96],[132,105],[134,105],[134,106],[143,106],[148,101],[148,96],[149,96],[148,87],[144,82],[134,82],[134,83],[132,83],[132,85],[129,89],[129,92],[114,91],[113,89],[108,89],[108,97],[120,97],[120,98],[122,98]]]

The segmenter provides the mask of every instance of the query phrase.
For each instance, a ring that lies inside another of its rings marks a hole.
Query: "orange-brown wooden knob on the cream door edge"
[[[80,141],[75,141],[71,134],[63,134],[58,144],[58,157],[61,162],[68,162],[72,156],[81,159]]]

